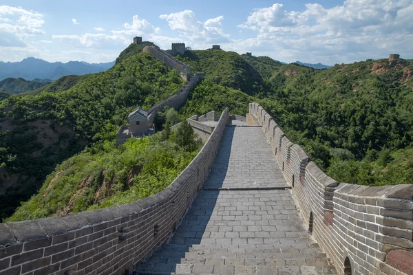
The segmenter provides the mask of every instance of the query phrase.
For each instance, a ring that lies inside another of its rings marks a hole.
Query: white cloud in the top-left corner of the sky
[[[3,17],[6,16],[6,17]],[[21,7],[0,5],[0,46],[26,47],[25,38],[44,34],[43,14]]]

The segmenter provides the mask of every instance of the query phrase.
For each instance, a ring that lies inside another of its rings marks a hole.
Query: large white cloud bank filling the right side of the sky
[[[412,56],[412,14],[411,0],[346,0],[333,8],[313,3],[306,4],[304,12],[275,3],[253,10],[238,27],[257,33],[249,41],[260,53],[288,62],[334,64],[390,52]],[[246,41],[237,41],[229,47],[246,50],[245,45]]]

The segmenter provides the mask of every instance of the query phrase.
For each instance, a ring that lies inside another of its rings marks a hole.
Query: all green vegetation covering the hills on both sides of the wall
[[[7,180],[0,190],[7,192],[0,193],[0,207],[10,206],[3,217],[16,201],[34,194],[53,169],[13,220],[112,206],[158,192],[200,146],[190,128],[170,133],[167,126],[226,107],[244,115],[253,101],[338,181],[411,183],[412,61],[369,60],[318,70],[265,56],[187,50],[177,58],[206,79],[179,115],[158,114],[157,129],[165,126],[165,131],[116,148],[114,133],[128,111],[148,108],[182,85],[176,72],[141,54],[142,48],[127,47],[105,73],[67,77],[34,91],[36,96],[3,100],[0,177]]]

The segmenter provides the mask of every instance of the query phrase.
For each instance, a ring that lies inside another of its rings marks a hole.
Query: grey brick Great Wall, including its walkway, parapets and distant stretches
[[[187,88],[152,111],[182,106]],[[412,275],[413,185],[339,184],[259,104],[248,110],[246,118],[209,113],[217,121],[204,129],[207,142],[156,195],[0,223],[0,275]]]

